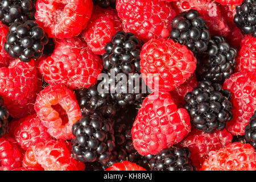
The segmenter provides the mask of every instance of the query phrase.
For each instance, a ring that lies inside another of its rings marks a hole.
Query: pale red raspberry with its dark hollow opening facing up
[[[72,126],[81,118],[81,111],[72,90],[63,85],[51,85],[36,98],[38,118],[56,139],[72,139]]]

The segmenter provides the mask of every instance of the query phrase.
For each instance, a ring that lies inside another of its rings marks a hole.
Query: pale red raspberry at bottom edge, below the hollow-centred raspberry
[[[23,167],[43,168],[44,171],[83,171],[85,164],[72,158],[67,143],[47,140],[30,146],[24,154]]]

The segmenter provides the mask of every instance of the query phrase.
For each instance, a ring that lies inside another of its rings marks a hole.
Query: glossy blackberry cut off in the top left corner
[[[0,19],[11,26],[14,22],[24,23],[35,20],[36,0],[2,0],[0,2]]]

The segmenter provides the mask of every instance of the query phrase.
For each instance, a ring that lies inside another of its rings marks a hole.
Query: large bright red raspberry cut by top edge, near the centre
[[[117,0],[118,16],[123,30],[132,32],[139,39],[168,38],[171,21],[176,16],[171,3],[160,0]]]

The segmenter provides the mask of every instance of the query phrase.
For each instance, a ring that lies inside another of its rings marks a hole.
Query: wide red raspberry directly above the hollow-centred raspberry
[[[96,84],[102,60],[79,37],[56,39],[55,50],[39,63],[39,72],[49,84],[66,84],[71,89]]]

